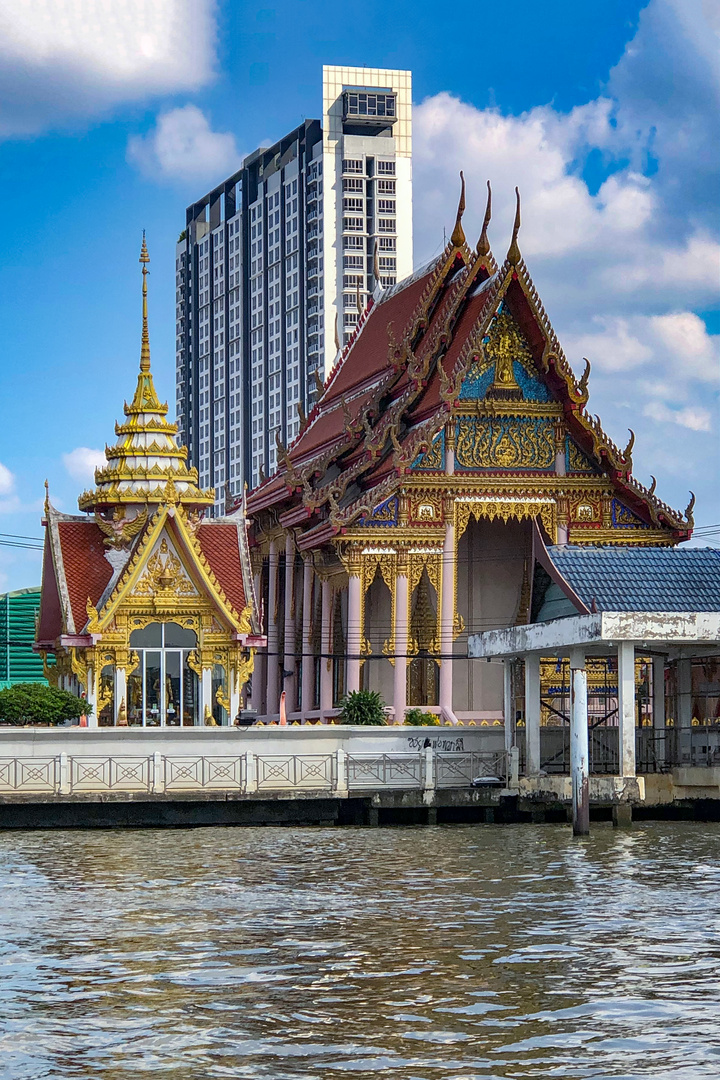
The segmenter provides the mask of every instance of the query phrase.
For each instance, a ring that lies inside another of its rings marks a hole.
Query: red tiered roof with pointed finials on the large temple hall
[[[683,515],[656,497],[654,482],[646,488],[636,481],[634,435],[621,449],[587,410],[589,364],[578,379],[549,324],[518,247],[519,201],[500,267],[487,241],[489,208],[472,251],[462,206],[440,256],[370,300],[298,437],[279,447],[277,471],[248,496],[248,515],[257,521],[271,512],[284,526],[303,527],[304,548],[340,534],[397,491],[453,416],[463,381],[504,312],[528,350],[528,378],[559,410],[587,471],[609,478],[642,527],[665,531],[669,543],[687,539],[692,501]],[[506,377],[514,383],[512,369]],[[517,387],[504,388],[497,375],[495,383],[486,396],[502,411]]]

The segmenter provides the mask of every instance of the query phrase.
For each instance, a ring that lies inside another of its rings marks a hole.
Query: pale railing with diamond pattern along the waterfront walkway
[[[473,781],[507,782],[505,752],[0,758],[0,798],[8,795],[154,795],[184,792],[369,792],[467,787]],[[515,757],[517,761],[517,757]],[[517,766],[515,765],[515,771]]]

